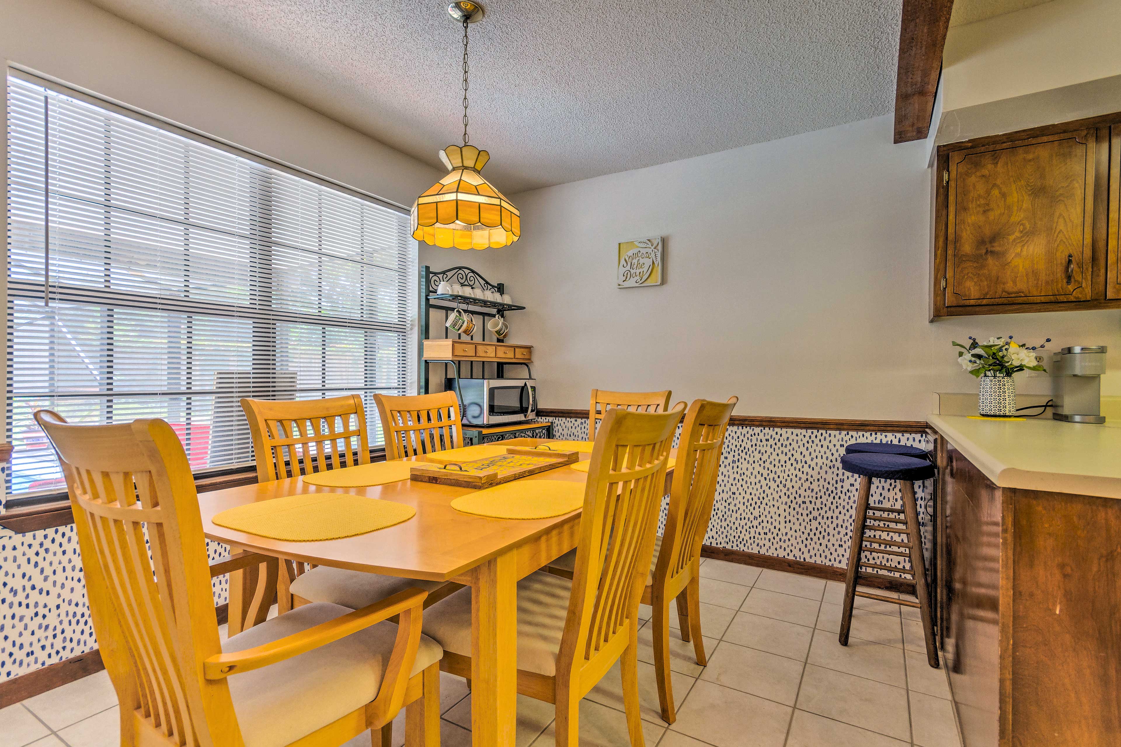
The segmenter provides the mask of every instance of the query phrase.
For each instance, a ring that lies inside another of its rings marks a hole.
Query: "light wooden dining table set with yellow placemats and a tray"
[[[536,446],[548,439],[511,439],[503,445]],[[582,460],[590,454],[581,454]],[[424,461],[424,458],[418,458]],[[586,472],[569,465],[516,483],[532,489],[536,480],[584,482]],[[666,476],[669,492],[671,473]],[[349,492],[407,504],[411,519],[353,537],[326,542],[289,542],[237,532],[213,523],[220,511],[295,494]],[[323,488],[300,478],[259,482],[198,496],[206,537],[235,548],[275,557],[471,587],[471,729],[475,747],[513,747],[518,694],[518,580],[576,546],[581,510],[544,519],[498,519],[452,508],[469,488],[400,480],[362,488]],[[259,609],[271,603],[265,572],[231,574],[231,634],[245,619],[256,597]],[[253,588],[250,581],[261,581]],[[272,580],[275,583],[275,580]],[[263,607],[261,607],[263,601]],[[258,618],[260,619],[260,618]]]

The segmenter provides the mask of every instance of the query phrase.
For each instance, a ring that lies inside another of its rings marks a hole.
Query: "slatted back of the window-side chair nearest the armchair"
[[[242,399],[257,479],[284,480],[370,463],[362,397]]]

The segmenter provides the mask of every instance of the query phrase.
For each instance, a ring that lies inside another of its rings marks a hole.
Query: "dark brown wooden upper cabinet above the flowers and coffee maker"
[[[932,316],[1121,307],[1121,113],[939,146]]]

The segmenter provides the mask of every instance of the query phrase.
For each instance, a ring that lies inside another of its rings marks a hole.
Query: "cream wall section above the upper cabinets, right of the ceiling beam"
[[[952,111],[1121,74],[1121,2],[1055,0],[946,36],[943,108]]]

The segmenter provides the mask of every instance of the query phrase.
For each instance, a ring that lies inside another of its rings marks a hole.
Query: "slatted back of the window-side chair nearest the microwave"
[[[405,459],[463,445],[460,399],[454,391],[389,397],[373,395],[386,439],[386,459]]]

